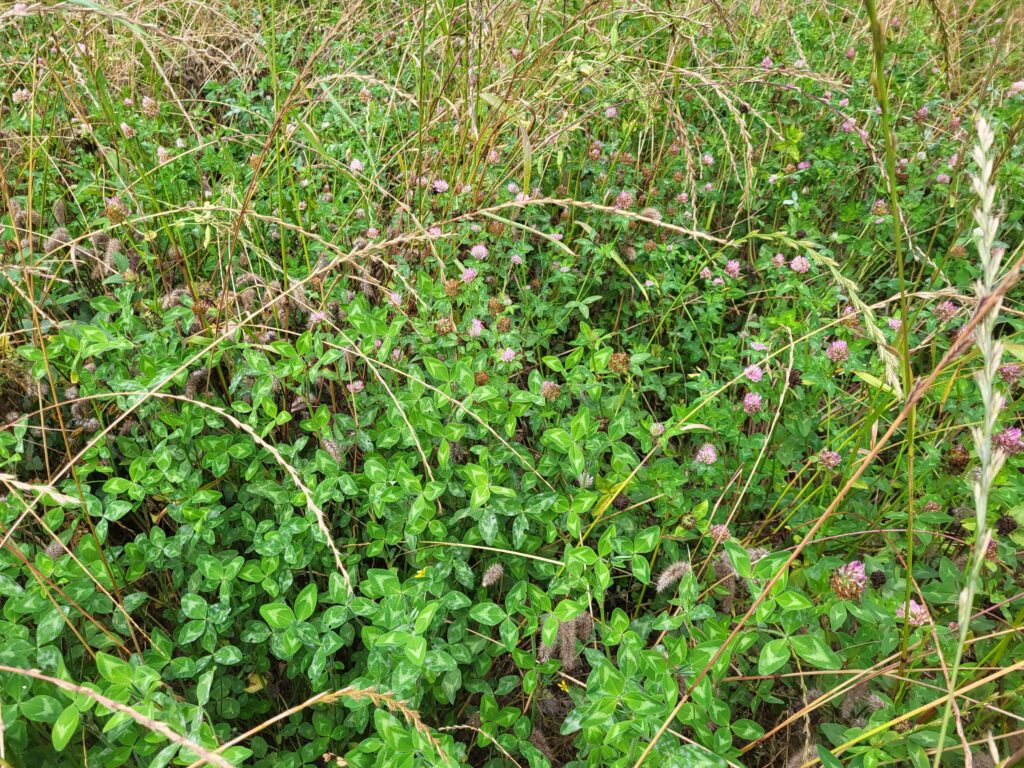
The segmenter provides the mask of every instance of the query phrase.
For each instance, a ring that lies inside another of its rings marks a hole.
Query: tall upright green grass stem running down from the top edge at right
[[[911,391],[913,387],[913,372],[910,370],[910,323],[907,311],[907,291],[903,265],[903,224],[899,210],[899,195],[896,190],[896,137],[893,135],[892,121],[889,114],[889,87],[886,80],[885,54],[886,38],[882,23],[879,20],[879,10],[876,0],[864,0],[867,16],[871,26],[871,52],[874,61],[874,94],[882,110],[882,133],[886,142],[886,181],[889,190],[889,211],[893,220],[893,248],[896,252],[896,269],[899,275],[899,353],[903,362],[903,390]],[[916,422],[916,409],[911,409],[906,420],[906,592],[903,596],[904,610],[909,610],[910,594],[913,579],[913,436]],[[900,639],[900,649],[905,662],[910,625],[903,625]]]

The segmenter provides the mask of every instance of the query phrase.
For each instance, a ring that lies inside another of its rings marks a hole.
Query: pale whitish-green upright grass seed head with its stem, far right
[[[974,230],[974,234],[978,243],[981,280],[975,284],[974,290],[978,302],[981,304],[995,288],[1002,252],[992,248],[995,233],[999,228],[999,216],[994,211],[995,181],[992,178],[994,136],[991,127],[984,118],[978,118],[977,125],[978,142],[974,147],[973,155],[974,162],[978,165],[978,174],[971,177],[971,185],[974,187],[975,195],[978,196],[978,207],[974,210],[974,220],[978,226]],[[992,310],[982,318],[974,330],[975,343],[978,345],[982,360],[981,368],[975,374],[975,380],[978,382],[981,402],[985,410],[981,423],[971,428],[975,449],[978,452],[978,474],[974,482],[976,534],[974,552],[971,555],[971,567],[967,572],[967,581],[959,595],[959,637],[949,677],[950,696],[942,712],[942,724],[939,726],[939,737],[935,744],[935,761],[933,763],[935,768],[941,764],[942,742],[945,740],[952,706],[951,692],[956,689],[956,678],[964,654],[964,645],[967,643],[967,634],[970,629],[971,611],[978,591],[978,584],[981,581],[981,567],[985,562],[985,554],[992,540],[992,531],[988,526],[988,496],[992,489],[992,483],[1007,459],[1002,449],[992,444],[995,422],[1004,404],[1002,393],[995,387],[995,378],[998,376],[999,361],[1002,358],[1002,344],[994,338],[995,324],[1001,304],[1001,299],[996,297]]]

